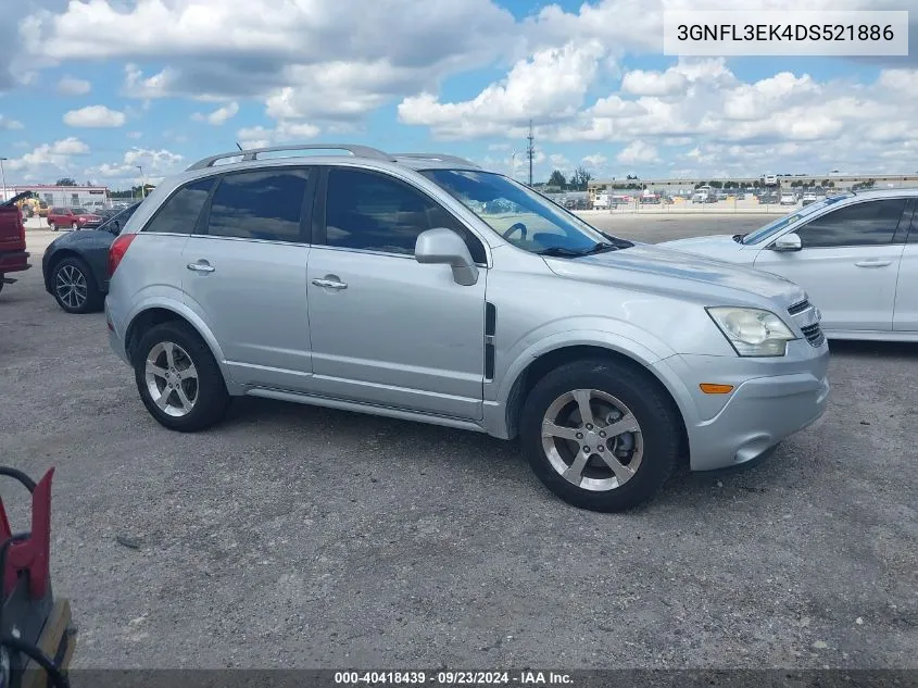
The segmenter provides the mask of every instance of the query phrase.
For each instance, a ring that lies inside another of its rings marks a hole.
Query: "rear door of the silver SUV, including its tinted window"
[[[185,246],[187,303],[213,332],[237,383],[306,389],[314,186],[305,166],[228,173]]]

